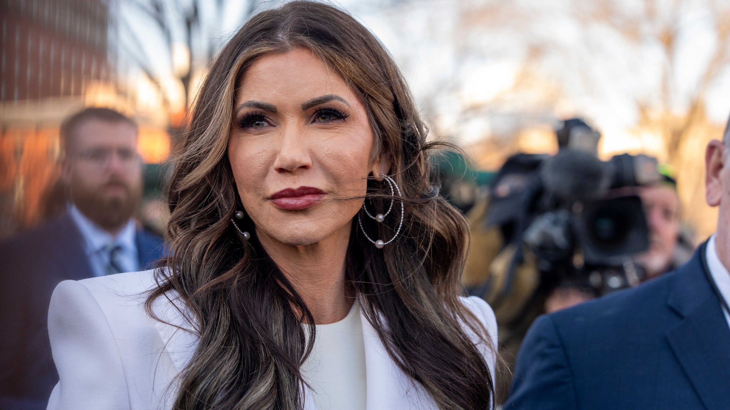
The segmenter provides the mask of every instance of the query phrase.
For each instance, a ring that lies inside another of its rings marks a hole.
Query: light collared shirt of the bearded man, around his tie
[[[123,272],[139,270],[137,228],[134,220],[130,219],[117,236],[112,236],[111,233],[82,214],[75,205],[69,206],[69,214],[84,238],[84,252],[91,264],[94,276],[109,274],[107,266],[110,263],[110,250],[115,246],[121,247],[115,258],[115,264]]]

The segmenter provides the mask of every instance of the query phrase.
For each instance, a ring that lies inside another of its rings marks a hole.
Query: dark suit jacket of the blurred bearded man
[[[53,223],[0,242],[0,409],[45,409],[58,374],[48,340],[50,295],[59,282],[93,275],[76,224]],[[139,266],[161,258],[164,244],[137,231]]]

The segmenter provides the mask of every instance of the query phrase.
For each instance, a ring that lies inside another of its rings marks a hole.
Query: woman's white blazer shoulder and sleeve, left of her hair
[[[49,409],[156,409],[150,403],[166,400],[155,386],[169,386],[196,338],[147,314],[156,282],[155,272],[142,271],[55,288],[48,334],[61,382]],[[155,299],[155,314],[174,310],[171,300]]]

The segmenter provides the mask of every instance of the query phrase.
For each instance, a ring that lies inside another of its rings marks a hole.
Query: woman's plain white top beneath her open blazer
[[[345,319],[315,327],[315,347],[301,372],[317,409],[365,410],[365,343],[358,303]]]

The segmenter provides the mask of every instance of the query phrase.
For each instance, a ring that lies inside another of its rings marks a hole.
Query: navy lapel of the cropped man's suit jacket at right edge
[[[730,328],[720,301],[697,262],[691,274],[677,275],[669,305],[684,320],[669,330],[666,338],[707,410],[727,409]]]

